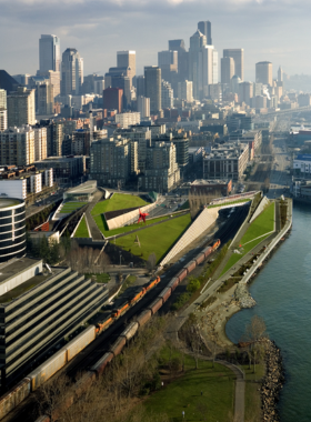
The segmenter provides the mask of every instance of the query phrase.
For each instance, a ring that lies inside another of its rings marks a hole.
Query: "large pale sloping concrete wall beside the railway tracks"
[[[160,262],[160,267],[163,267],[170,260],[172,260],[179,252],[181,252],[188,244],[198,239],[209,227],[211,227],[218,218],[217,208],[204,208],[200,215],[194,220],[190,228],[183,233],[180,240],[174,244],[165,258]]]

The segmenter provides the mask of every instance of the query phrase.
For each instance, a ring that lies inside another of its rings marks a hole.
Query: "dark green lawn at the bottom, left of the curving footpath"
[[[178,352],[173,353],[173,356]],[[184,375],[169,383],[144,401],[148,412],[167,413],[170,421],[219,421],[233,420],[235,375],[218,363],[185,358]],[[201,395],[202,391],[202,395]]]

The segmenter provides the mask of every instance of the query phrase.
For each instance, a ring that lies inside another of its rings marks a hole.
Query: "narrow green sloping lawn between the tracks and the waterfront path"
[[[250,224],[248,231],[244,233],[240,241],[243,250],[241,254],[233,253],[229,261],[227,262],[221,275],[223,275],[231,267],[233,267],[241,258],[243,258],[248,252],[250,252],[260,242],[267,239],[271,231],[274,230],[274,207],[275,203],[272,202],[262,213]],[[264,235],[265,234],[265,235]],[[262,237],[262,238],[260,238]],[[259,239],[257,239],[259,238]]]

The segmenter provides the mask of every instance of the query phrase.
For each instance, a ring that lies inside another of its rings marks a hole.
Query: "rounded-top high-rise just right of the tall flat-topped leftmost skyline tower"
[[[83,59],[76,49],[67,49],[61,62],[61,94],[79,96],[83,83]]]

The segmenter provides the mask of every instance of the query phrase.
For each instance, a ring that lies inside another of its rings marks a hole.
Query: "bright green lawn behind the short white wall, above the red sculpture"
[[[92,215],[99,215],[103,212],[124,210],[126,208],[143,207],[147,205],[146,202],[140,197],[126,193],[114,193],[111,199],[98,202],[91,211]]]

